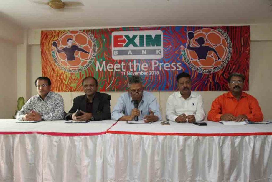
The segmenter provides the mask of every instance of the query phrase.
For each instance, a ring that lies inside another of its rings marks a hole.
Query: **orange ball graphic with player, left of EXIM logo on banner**
[[[58,62],[67,70],[77,70],[87,65],[93,55],[93,47],[90,36],[79,30],[65,32],[52,43]]]

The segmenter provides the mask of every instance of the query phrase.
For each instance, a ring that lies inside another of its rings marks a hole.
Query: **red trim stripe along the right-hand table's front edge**
[[[111,134],[125,135],[179,135],[179,136],[250,136],[250,135],[272,135],[272,132],[259,133],[149,133],[149,132],[132,132],[132,131],[107,131]]]

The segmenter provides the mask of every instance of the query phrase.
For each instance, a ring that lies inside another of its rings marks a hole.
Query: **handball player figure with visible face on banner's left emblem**
[[[67,61],[74,61],[75,60],[75,51],[81,51],[81,52],[90,54],[90,52],[85,51],[82,48],[79,48],[77,45],[72,45],[72,43],[73,43],[73,39],[68,38],[67,39],[67,44],[68,45],[63,49],[59,49],[57,47],[57,42],[56,41],[54,41],[52,43],[52,45],[57,49],[58,53],[65,53],[66,54]]]

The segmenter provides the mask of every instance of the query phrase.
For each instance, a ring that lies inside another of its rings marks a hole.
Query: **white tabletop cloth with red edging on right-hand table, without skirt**
[[[170,125],[161,125],[160,122],[152,124],[127,124],[119,121],[108,133],[115,134],[148,134],[148,135],[196,135],[196,136],[222,136],[222,135],[258,135],[272,134],[272,124],[223,125],[222,123],[205,121],[207,126],[198,126],[192,123],[169,122]]]

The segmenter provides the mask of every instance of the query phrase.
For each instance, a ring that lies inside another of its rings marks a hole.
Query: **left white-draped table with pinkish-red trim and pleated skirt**
[[[103,135],[116,121],[0,119],[1,182],[103,181]]]

